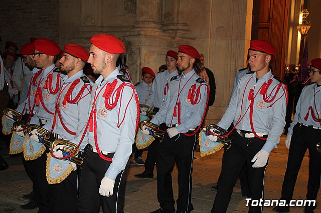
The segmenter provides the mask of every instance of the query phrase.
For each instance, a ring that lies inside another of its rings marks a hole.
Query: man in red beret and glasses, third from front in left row
[[[43,126],[48,120],[51,119],[55,112],[56,99],[58,91],[62,86],[62,75],[59,69],[55,67],[55,60],[60,53],[58,44],[47,38],[37,39],[34,42],[35,52],[33,53],[36,67],[41,70],[34,76],[31,85],[31,94],[35,95],[34,105],[39,105],[30,120],[30,123]],[[27,123],[28,124],[28,123]],[[38,131],[35,129],[30,137],[38,138]],[[50,203],[48,199],[49,184],[46,178],[46,154],[49,152],[46,149],[39,158],[32,160],[30,163],[32,170],[35,173],[33,182],[33,189],[35,192],[35,199],[37,201],[40,211],[49,212]]]

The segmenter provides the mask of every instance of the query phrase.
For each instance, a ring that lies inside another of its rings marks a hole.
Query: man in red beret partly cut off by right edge
[[[316,200],[320,187],[321,153],[316,144],[321,138],[321,58],[311,60],[309,71],[312,84],[304,86],[296,104],[293,121],[288,128],[285,145],[289,148],[282,196],[289,204],[306,149],[309,150],[309,178],[306,199]],[[305,206],[304,212],[313,212],[316,206]],[[289,212],[290,206],[276,206],[276,212]]]

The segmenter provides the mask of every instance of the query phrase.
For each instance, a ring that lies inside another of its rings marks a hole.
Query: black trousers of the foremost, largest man
[[[113,155],[114,153],[108,153],[105,156],[112,158]],[[98,153],[88,149],[80,176],[77,212],[97,212],[100,204],[103,212],[124,212],[125,179],[129,161],[116,177],[113,195],[107,197],[99,194],[101,180],[110,163],[111,161],[102,159]]]

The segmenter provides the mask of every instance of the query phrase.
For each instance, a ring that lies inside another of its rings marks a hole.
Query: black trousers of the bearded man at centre
[[[191,134],[192,132],[187,133]],[[195,135],[186,136],[182,133],[170,138],[165,133],[163,141],[157,146],[157,198],[161,207],[169,212],[175,211],[171,174],[175,163],[178,168],[179,184],[178,212],[190,212],[194,209],[191,195],[195,138]]]

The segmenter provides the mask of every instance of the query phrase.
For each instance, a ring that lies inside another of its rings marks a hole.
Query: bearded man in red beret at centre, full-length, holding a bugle
[[[176,212],[191,212],[192,170],[195,133],[204,118],[208,99],[208,84],[198,76],[200,53],[189,45],[180,45],[177,69],[182,72],[171,78],[168,94],[150,122],[166,123],[167,132],[156,149],[157,198],[159,208],[153,212],[175,212],[172,170],[176,163],[179,197]],[[143,126],[142,133],[152,129]]]

